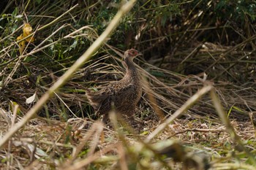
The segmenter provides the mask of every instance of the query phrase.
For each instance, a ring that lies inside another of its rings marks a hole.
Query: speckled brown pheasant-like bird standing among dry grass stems
[[[121,116],[134,115],[135,107],[142,94],[140,74],[133,62],[138,55],[141,53],[135,49],[125,51],[122,62],[126,72],[121,80],[110,82],[98,91],[86,89],[86,97],[94,108],[95,115],[102,116],[104,121],[108,119],[111,109],[115,109]]]

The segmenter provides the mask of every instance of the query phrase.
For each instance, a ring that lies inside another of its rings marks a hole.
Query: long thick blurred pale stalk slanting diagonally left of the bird
[[[22,126],[25,125],[31,119],[31,117],[33,117],[33,115],[39,111],[39,109],[42,108],[46,101],[48,101],[51,96],[53,96],[54,91],[58,90],[62,85],[64,85],[72,76],[72,74],[74,74],[77,69],[83,66],[83,63],[88,61],[89,58],[91,58],[91,55],[93,55],[99,49],[99,47],[101,47],[101,45],[107,41],[108,36],[110,36],[110,34],[116,29],[121,18],[127,14],[130,9],[132,9],[134,4],[135,0],[128,1],[118,10],[116,16],[113,18],[113,20],[111,20],[108,27],[99,36],[99,38],[95,40],[89,49],[86,50],[86,52],[83,53],[83,55],[81,55],[77,61],[75,61],[75,63],[67,70],[67,72],[65,72],[41,98],[39,98],[39,101],[37,101],[34,107],[29,109],[29,112],[27,112],[23,119],[16,123],[15,126],[12,127],[10,131],[7,132],[7,134],[4,135],[3,139],[0,141],[0,148],[12,137],[12,135],[14,135],[20,128],[22,128]]]

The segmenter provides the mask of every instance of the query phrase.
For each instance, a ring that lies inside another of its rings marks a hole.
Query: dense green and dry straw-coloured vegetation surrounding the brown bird
[[[1,139],[127,1],[0,3]],[[255,169],[255,11],[245,0],[137,1],[1,146],[0,169]],[[94,121],[85,90],[119,80],[129,48],[143,53],[135,59],[143,96],[134,123],[113,116],[106,127]]]

